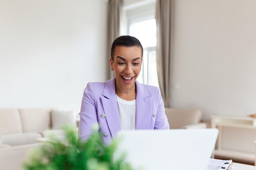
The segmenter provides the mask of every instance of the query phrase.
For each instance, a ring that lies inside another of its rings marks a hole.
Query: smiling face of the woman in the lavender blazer
[[[114,70],[117,88],[121,91],[132,90],[141,70],[141,47],[116,46],[113,59],[110,58],[110,65]]]

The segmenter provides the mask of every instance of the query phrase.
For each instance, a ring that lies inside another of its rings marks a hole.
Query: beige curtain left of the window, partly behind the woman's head
[[[111,71],[109,59],[111,53],[112,42],[120,36],[120,18],[121,18],[122,0],[109,0],[108,1],[108,79],[114,76]]]

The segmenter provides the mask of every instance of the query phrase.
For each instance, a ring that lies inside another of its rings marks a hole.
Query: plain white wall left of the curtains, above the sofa
[[[0,108],[80,108],[105,81],[106,0],[0,0]]]

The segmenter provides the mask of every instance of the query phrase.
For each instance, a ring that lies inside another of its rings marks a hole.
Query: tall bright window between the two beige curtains
[[[143,84],[159,87],[157,77],[155,23],[155,0],[124,0],[121,19],[121,35],[131,35],[139,39],[143,46],[141,72],[137,80]],[[137,3],[136,3],[137,2]]]

